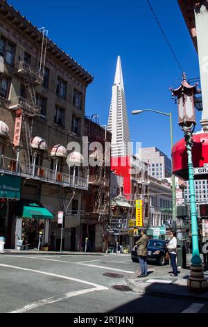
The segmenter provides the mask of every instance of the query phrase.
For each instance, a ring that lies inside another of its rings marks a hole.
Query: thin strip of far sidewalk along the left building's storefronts
[[[105,255],[101,252],[76,252],[76,251],[42,251],[42,250],[15,250],[4,249],[4,255]]]

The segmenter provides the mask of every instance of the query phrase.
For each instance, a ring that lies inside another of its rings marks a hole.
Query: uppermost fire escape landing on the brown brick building
[[[42,84],[44,80],[44,74],[37,70],[37,68],[28,65],[28,63],[26,63],[25,61],[19,61],[19,64],[17,64],[16,74],[21,77],[24,77],[29,74],[31,77],[33,77],[34,83],[37,85]]]

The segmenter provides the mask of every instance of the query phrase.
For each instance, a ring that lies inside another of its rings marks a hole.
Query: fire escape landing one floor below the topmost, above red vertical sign
[[[11,99],[12,105],[9,106],[9,109],[11,110],[18,110],[22,109],[24,113],[30,117],[38,117],[40,115],[40,106],[37,106],[36,104],[33,104],[32,102],[29,102],[24,97],[15,97]]]

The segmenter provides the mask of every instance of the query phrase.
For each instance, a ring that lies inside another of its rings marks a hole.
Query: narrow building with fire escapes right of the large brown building
[[[92,117],[85,117],[84,134],[89,140],[89,189],[82,195],[82,246],[84,249],[87,237],[87,250],[101,252],[107,241],[105,225],[110,216],[111,133]]]

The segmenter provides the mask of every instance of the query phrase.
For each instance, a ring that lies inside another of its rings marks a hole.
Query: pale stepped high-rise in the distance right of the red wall
[[[148,175],[158,180],[171,177],[171,159],[157,147],[142,147],[141,159],[148,163]]]

